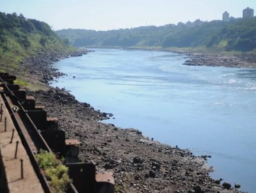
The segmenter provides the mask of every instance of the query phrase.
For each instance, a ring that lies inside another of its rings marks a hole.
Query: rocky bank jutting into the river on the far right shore
[[[184,65],[189,66],[226,66],[233,68],[256,68],[256,55],[254,54],[188,54],[189,60]]]

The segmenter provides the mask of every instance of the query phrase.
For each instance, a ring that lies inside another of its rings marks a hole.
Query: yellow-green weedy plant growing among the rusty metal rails
[[[53,153],[41,150],[41,153],[35,155],[40,168],[49,181],[49,185],[54,193],[67,192],[67,186],[71,182],[68,177],[68,168],[59,163]]]

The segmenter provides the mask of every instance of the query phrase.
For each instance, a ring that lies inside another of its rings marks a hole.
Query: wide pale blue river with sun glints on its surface
[[[171,146],[211,155],[211,176],[256,192],[256,69],[185,66],[169,52],[94,49],[54,64],[52,86]],[[73,78],[75,76],[76,78]]]

